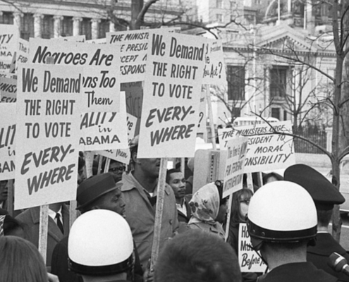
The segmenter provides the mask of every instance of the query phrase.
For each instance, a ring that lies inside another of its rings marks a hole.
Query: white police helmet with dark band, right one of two
[[[310,194],[296,183],[274,181],[251,198],[247,226],[252,245],[300,242],[317,234],[317,209]]]

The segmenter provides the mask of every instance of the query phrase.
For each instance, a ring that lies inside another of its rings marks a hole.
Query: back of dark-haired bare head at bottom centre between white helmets
[[[221,238],[190,230],[169,240],[157,260],[155,282],[240,282],[238,258]]]

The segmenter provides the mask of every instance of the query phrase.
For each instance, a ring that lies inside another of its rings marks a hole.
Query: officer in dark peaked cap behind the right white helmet
[[[329,233],[329,222],[334,204],[343,204],[345,201],[336,187],[321,173],[305,164],[295,164],[286,169],[285,180],[301,185],[307,190],[317,208],[317,244],[307,248],[307,261],[312,262],[318,269],[324,269],[329,274],[338,277],[341,281],[349,281],[349,277],[336,272],[327,264],[329,255],[337,252],[347,259],[349,255]]]

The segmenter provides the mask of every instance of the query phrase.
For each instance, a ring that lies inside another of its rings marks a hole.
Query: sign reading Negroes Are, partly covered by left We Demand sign
[[[83,112],[120,110],[120,56],[114,47],[37,38],[29,43],[30,63],[46,63],[47,56],[53,56],[56,65],[83,66]]]

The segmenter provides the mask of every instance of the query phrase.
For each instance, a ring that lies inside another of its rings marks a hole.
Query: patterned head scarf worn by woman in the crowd
[[[219,212],[219,192],[214,183],[204,185],[189,202],[192,216],[199,221],[216,223]]]

